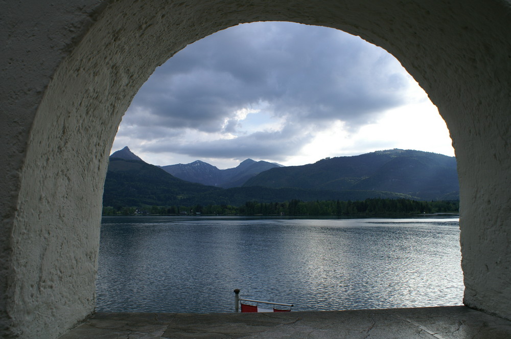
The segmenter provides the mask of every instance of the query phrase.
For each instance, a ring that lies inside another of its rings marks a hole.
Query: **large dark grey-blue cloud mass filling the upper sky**
[[[312,125],[319,132],[341,120],[356,130],[403,104],[400,91],[408,79],[396,72],[397,65],[378,48],[332,29],[285,22],[241,25],[191,44],[158,67],[135,96],[121,133],[126,135],[125,125],[146,127],[137,132],[139,139],[145,132],[153,140],[165,139],[183,128],[236,133],[241,129],[236,111],[264,102],[271,115],[287,121],[282,131],[178,149],[196,156],[207,149],[211,157],[219,147],[219,157],[246,150],[252,155],[241,157],[268,159],[293,140],[291,132],[298,131],[296,147],[313,137],[299,132]]]

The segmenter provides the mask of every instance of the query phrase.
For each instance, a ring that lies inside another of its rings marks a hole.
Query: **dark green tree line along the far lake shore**
[[[103,207],[104,216],[115,215],[243,215],[243,216],[406,216],[458,213],[459,201],[417,201],[369,198],[361,201],[292,199],[285,202],[247,201],[241,206],[140,206]]]

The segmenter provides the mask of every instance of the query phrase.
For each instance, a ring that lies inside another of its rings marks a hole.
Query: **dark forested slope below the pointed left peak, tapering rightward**
[[[310,200],[362,200],[368,197],[409,198],[380,191],[327,191],[297,188],[236,187],[222,189],[189,183],[143,161],[110,159],[105,179],[104,206],[234,205],[260,202]]]

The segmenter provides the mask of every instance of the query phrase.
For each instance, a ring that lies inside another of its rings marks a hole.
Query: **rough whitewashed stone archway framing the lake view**
[[[94,311],[108,151],[132,97],[188,43],[240,22],[360,35],[401,61],[446,120],[458,161],[468,306],[511,319],[511,3],[74,0],[6,4],[0,317],[56,337]]]

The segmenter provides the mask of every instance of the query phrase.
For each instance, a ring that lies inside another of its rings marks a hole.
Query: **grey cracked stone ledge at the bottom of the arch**
[[[511,321],[464,306],[278,313],[97,313],[61,339],[509,339]]]

